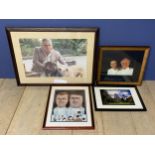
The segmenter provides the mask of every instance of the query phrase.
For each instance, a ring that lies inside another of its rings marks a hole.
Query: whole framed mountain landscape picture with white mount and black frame
[[[95,86],[95,108],[98,111],[146,111],[136,87]]]

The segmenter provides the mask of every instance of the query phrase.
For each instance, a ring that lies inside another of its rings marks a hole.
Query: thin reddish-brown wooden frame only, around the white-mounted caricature
[[[80,87],[79,85],[74,85],[75,87]],[[83,86],[83,85],[82,85]],[[68,87],[73,87],[73,86],[68,86]],[[84,86],[86,87],[86,86]],[[47,120],[47,113],[48,113],[48,108],[49,108],[49,101],[50,101],[50,95],[51,95],[51,90],[52,87],[50,88],[49,91],[49,95],[48,95],[48,100],[47,100],[47,106],[45,109],[45,115],[44,115],[44,122],[43,122],[43,130],[88,130],[88,129],[94,129],[95,128],[95,124],[94,124],[94,114],[93,114],[93,107],[92,107],[92,94],[91,94],[91,86],[87,86],[88,87],[88,95],[89,95],[89,100],[90,100],[90,114],[91,114],[91,124],[92,126],[77,126],[77,127],[68,127],[68,126],[64,126],[64,127],[46,127],[46,120]],[[63,86],[62,86],[63,88]],[[61,122],[60,122],[61,123]]]

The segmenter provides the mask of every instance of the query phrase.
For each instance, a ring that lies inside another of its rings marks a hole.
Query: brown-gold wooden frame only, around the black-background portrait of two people
[[[126,51],[144,51],[144,58],[143,58],[143,62],[141,65],[141,71],[139,74],[139,78],[138,81],[136,82],[117,82],[117,81],[103,81],[100,77],[101,75],[101,71],[102,71],[102,54],[104,53],[104,50],[106,51],[117,51],[117,50],[126,50]],[[143,79],[143,75],[144,75],[144,71],[145,71],[145,67],[146,67],[146,62],[149,56],[149,51],[150,51],[150,47],[149,46],[101,46],[99,47],[99,54],[98,54],[98,71],[96,73],[96,77],[97,77],[97,81],[96,84],[97,85],[102,85],[102,84],[107,84],[107,85],[141,85],[142,83],[142,79]]]

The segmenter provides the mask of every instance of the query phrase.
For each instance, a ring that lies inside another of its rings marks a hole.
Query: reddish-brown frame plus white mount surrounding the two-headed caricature
[[[54,101],[56,96],[56,91],[78,91],[84,90],[85,94],[85,108],[86,108],[86,117],[88,118],[87,122],[59,122],[50,121],[51,114],[53,113]],[[46,107],[43,129],[44,130],[55,130],[55,129],[75,129],[75,130],[84,130],[84,129],[94,129],[94,118],[93,118],[93,110],[92,110],[92,98],[91,98],[91,88],[89,86],[53,86],[50,89],[48,103]]]

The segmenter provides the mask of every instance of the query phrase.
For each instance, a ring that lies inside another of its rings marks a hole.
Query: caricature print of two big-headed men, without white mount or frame
[[[86,122],[84,93],[83,90],[56,91],[51,122]]]

